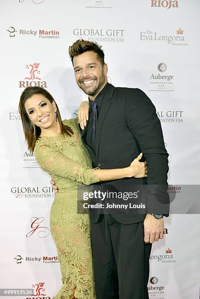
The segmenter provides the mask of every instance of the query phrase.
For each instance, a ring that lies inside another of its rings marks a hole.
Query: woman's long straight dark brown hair
[[[54,101],[52,95],[42,87],[26,87],[22,92],[22,95],[20,97],[19,112],[20,112],[21,119],[22,119],[22,126],[23,126],[24,135],[25,135],[25,140],[27,142],[28,149],[31,151],[34,150],[36,141],[40,137],[41,128],[35,126],[33,124],[33,122],[29,119],[24,105],[25,105],[26,100],[31,98],[34,94],[44,95],[44,97],[47,100],[49,100],[49,102],[51,102],[51,103]],[[72,129],[62,123],[60,111],[58,109],[57,104],[56,104],[56,108],[57,108],[56,114],[57,114],[58,122],[60,124],[61,134],[71,136],[73,134]],[[35,129],[34,129],[34,127],[35,127]]]

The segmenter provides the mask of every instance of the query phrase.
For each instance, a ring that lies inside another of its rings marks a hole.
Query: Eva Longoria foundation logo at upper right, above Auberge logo
[[[183,32],[184,30],[179,28],[173,34],[159,34],[147,29],[140,32],[140,41],[148,43],[155,43],[156,41],[157,43],[168,43],[173,46],[188,46],[188,43],[185,43]]]

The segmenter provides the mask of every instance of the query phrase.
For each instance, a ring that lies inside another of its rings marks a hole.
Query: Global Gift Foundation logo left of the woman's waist
[[[51,187],[12,187],[12,194],[16,198],[49,198],[54,197],[53,189]]]

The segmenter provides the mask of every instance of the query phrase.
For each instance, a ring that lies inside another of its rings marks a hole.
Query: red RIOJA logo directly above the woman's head
[[[24,77],[24,81],[19,81],[20,88],[26,88],[29,86],[47,87],[46,81],[41,81],[42,78],[40,75],[39,66],[39,63],[26,64],[25,69],[27,69],[28,74]]]

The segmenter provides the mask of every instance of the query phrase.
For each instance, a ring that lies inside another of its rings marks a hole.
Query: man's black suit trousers
[[[111,214],[91,223],[97,299],[148,299],[149,257],[144,223],[121,224]]]

